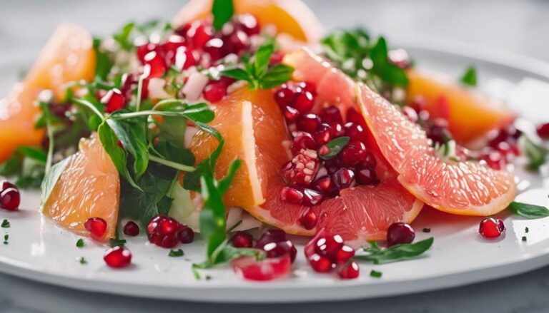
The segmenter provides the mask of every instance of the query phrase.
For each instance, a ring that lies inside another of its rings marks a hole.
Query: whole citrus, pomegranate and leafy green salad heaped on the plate
[[[428,253],[424,207],[478,216],[486,238],[503,210],[549,215],[514,201],[513,176],[544,166],[549,123],[526,135],[476,84],[365,30],[325,33],[297,0],[192,0],[106,38],[62,24],[0,102],[0,207],[40,188],[42,215],[110,245],[113,268],[132,263],[124,238],[177,257],[196,234],[197,279],[280,279],[297,235],[315,272],[355,279]]]

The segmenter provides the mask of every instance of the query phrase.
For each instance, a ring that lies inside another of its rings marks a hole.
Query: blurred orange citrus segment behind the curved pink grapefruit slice
[[[450,133],[461,143],[474,140],[489,130],[502,128],[515,119],[515,114],[502,103],[484,98],[468,88],[458,86],[444,77],[430,76],[415,70],[410,78],[408,98],[425,99],[425,110],[435,118],[447,118]]]

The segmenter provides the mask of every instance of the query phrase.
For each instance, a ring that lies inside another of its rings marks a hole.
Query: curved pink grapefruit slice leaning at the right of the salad
[[[437,210],[459,215],[493,215],[505,209],[517,191],[513,175],[476,162],[442,160],[425,131],[395,106],[360,84],[360,110],[381,153],[412,195]]]

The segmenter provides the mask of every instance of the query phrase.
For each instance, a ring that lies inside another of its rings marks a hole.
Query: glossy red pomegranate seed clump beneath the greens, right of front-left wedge
[[[147,225],[149,242],[159,247],[172,248],[179,241],[179,232],[183,230],[177,220],[165,215],[157,215]]]

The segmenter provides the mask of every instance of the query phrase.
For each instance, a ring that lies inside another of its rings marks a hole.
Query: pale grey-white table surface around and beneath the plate
[[[36,55],[56,24],[109,34],[133,19],[167,19],[185,1],[1,0],[0,58]],[[549,62],[549,1],[309,0],[327,28],[367,26],[505,49]],[[339,4],[339,6],[336,6]],[[405,266],[405,263],[402,263]],[[443,265],[441,265],[443,266]],[[549,312],[549,267],[493,282],[402,297],[322,304],[200,304],[77,292],[0,274],[0,312]],[[215,297],[212,294],[212,297]]]

